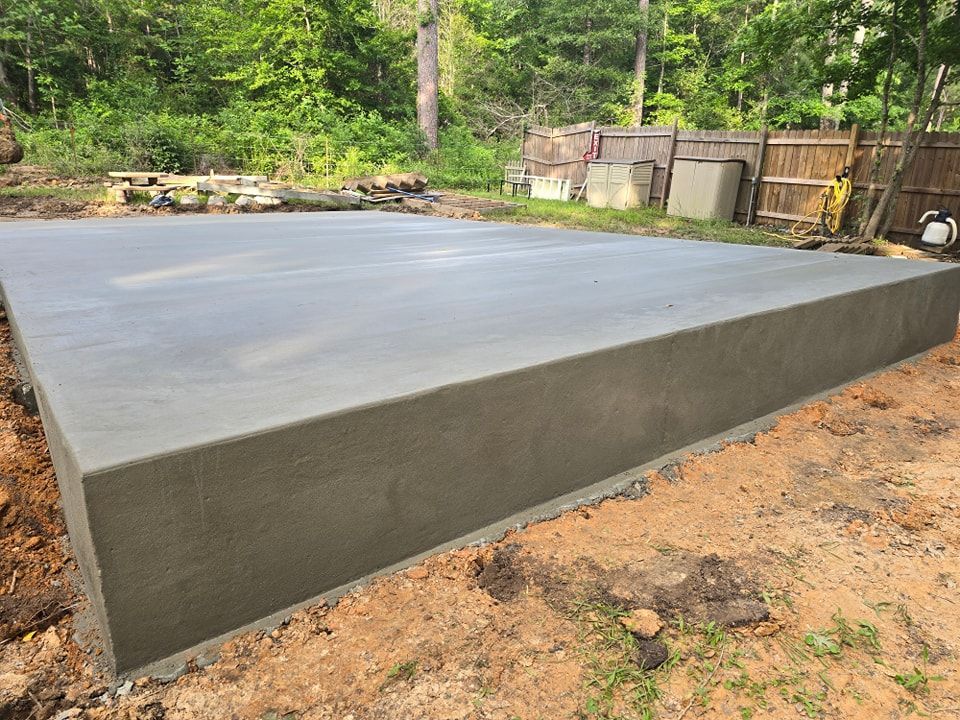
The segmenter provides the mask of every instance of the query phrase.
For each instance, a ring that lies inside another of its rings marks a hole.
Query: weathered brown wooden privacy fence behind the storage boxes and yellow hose
[[[843,168],[850,167],[854,197],[846,217],[856,219],[859,203],[870,192],[870,171],[878,133],[850,130],[778,130],[730,132],[678,130],[675,126],[596,127],[582,123],[563,128],[534,126],[523,138],[523,159],[534,175],[567,177],[583,184],[593,133],[600,135],[599,157],[653,160],[651,202],[663,206],[669,195],[674,158],[709,157],[744,160],[735,219],[747,224],[789,225],[817,208],[820,194]],[[883,191],[903,148],[902,133],[887,133],[878,183]],[[891,239],[919,237],[920,216],[946,207],[960,215],[960,133],[926,133],[913,166],[904,178],[894,210]]]

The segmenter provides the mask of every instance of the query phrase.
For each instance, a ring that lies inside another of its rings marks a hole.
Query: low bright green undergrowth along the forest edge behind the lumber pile
[[[21,134],[27,162],[64,175],[232,170],[330,185],[356,175],[420,171],[432,187],[479,188],[516,155],[516,142],[483,143],[459,125],[442,130],[440,149],[427,153],[415,123],[387,121],[377,112],[344,117],[312,107],[289,114],[240,100],[215,115],[181,115],[148,110],[161,103],[150,87],[104,87],[109,92],[91,92],[71,108],[67,128],[37,118]],[[138,92],[139,100],[122,104]]]

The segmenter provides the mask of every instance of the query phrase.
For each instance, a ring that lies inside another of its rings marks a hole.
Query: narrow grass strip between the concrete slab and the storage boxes
[[[548,225],[576,230],[622,233],[627,235],[654,235],[679,237],[739,245],[770,245],[789,247],[786,237],[776,238],[757,228],[748,228],[723,220],[690,220],[667,215],[658,207],[638,207],[629,210],[594,208],[584,202],[559,202],[513,198],[495,192],[471,192],[477,197],[503,199],[522,203],[513,211],[497,211],[487,215],[498,222],[521,225]]]

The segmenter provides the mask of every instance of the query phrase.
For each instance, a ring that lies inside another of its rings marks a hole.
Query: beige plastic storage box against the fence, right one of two
[[[674,158],[667,215],[733,220],[743,164],[736,158]]]

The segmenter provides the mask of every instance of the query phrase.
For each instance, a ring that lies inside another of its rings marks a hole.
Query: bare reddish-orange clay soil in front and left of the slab
[[[960,340],[119,693],[0,342],[2,719],[960,717]]]

